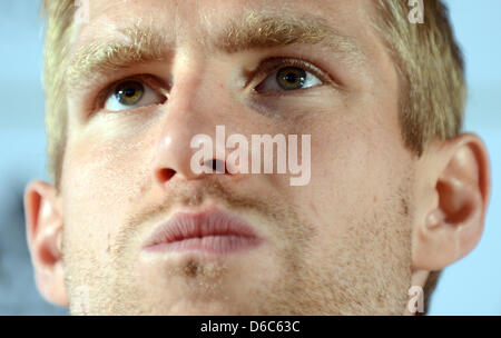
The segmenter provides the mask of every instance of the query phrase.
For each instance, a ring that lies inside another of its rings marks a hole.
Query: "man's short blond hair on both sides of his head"
[[[376,0],[374,27],[400,74],[400,125],[409,149],[421,156],[431,140],[459,135],[465,101],[464,68],[446,8],[440,0],[424,2],[424,23],[409,21],[407,1]],[[58,186],[65,153],[67,107],[63,70],[73,33],[73,0],[45,0],[48,17],[43,86],[51,178]],[[425,305],[440,271],[425,286]]]

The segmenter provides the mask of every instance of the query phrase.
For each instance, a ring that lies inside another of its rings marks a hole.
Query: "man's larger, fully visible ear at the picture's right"
[[[464,133],[428,147],[418,165],[414,279],[473,250],[483,231],[490,186],[489,155],[478,136]]]

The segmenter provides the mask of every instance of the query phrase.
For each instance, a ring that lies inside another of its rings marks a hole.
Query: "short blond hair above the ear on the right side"
[[[460,133],[466,88],[446,7],[426,0],[423,23],[411,23],[406,2],[377,0],[374,22],[400,74],[402,137],[421,156],[430,141]]]

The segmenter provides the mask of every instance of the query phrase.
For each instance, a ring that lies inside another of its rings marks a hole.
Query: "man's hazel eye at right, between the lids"
[[[307,89],[323,84],[321,79],[306,69],[306,66],[287,66],[278,68],[265,80],[263,80],[255,89],[258,92],[288,91]]]

